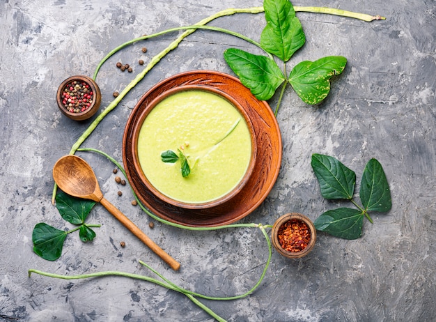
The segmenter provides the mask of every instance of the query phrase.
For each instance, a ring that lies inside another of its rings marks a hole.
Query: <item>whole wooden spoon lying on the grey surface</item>
[[[168,263],[173,270],[180,268],[180,263],[169,256],[169,254],[166,254],[162,248],[157,246],[153,240],[143,233],[129,218],[123,215],[120,210],[107,201],[107,199],[104,199],[94,171],[85,160],[77,155],[65,155],[54,164],[53,178],[63,192],[73,197],[100,202],[104,208],[109,210],[109,213],[114,215],[127,229],[132,231],[134,236],[137,236],[144,244],[150,247],[150,250],[153,250],[155,254]]]

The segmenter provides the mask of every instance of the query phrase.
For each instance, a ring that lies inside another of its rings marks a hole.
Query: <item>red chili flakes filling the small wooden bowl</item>
[[[283,250],[301,252],[311,240],[311,230],[306,222],[291,219],[280,226],[277,237]]]

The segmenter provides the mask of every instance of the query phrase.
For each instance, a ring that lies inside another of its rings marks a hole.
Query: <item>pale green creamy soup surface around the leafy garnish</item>
[[[191,167],[187,177],[181,174],[180,161],[161,159],[164,151],[178,154],[180,147]],[[207,91],[181,91],[146,116],[137,148],[143,174],[159,192],[202,204],[240,183],[249,167],[251,136],[244,117],[226,99]]]

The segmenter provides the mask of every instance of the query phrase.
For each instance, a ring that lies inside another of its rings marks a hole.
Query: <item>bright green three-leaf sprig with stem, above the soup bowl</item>
[[[229,48],[224,52],[228,66],[259,100],[270,100],[283,84],[276,115],[288,84],[306,104],[320,103],[330,91],[330,78],[341,74],[347,59],[326,56],[317,61],[302,61],[286,76],[286,62],[304,45],[306,36],[290,1],[265,0],[263,7],[267,24],[260,35],[260,47],[268,56]],[[283,72],[272,55],[283,62]]]

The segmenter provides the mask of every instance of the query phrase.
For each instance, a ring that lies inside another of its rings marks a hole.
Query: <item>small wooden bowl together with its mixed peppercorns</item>
[[[75,121],[82,121],[97,113],[102,94],[91,77],[78,75],[68,77],[62,82],[56,100],[65,116]]]

